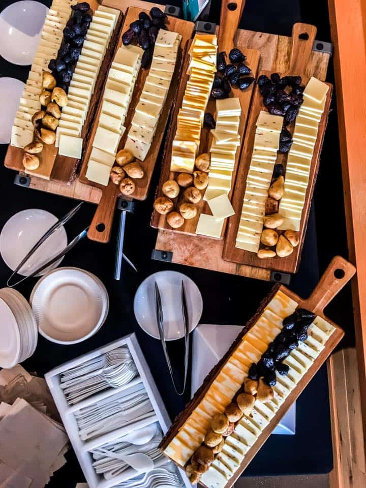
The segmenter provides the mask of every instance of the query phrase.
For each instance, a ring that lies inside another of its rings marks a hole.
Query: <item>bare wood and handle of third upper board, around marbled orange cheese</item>
[[[218,32],[218,52],[225,51],[227,54],[230,52],[230,50],[233,47],[235,47],[234,35],[237,31],[237,27],[241,18],[244,2],[242,0],[240,2],[237,2],[237,8],[235,10],[230,10],[228,8],[229,4],[230,2],[228,0],[224,0],[222,2],[220,28]],[[245,64],[249,66],[252,70],[250,76],[256,78],[258,65],[259,65],[259,58],[260,58],[259,51],[256,49],[242,49],[242,52],[247,56],[247,59],[245,60]],[[177,172],[170,171],[170,163],[171,163],[171,156],[172,156],[172,143],[177,128],[177,115],[182,104],[182,99],[184,97],[187,81],[189,80],[189,75],[187,75],[188,65],[189,65],[189,56],[186,56],[185,63],[182,67],[182,73],[180,77],[177,97],[175,99],[175,103],[172,111],[169,132],[165,143],[165,151],[163,156],[161,175],[160,175],[158,189],[156,191],[157,198],[164,195],[162,192],[162,186],[164,182],[167,180],[176,180],[179,174]],[[239,124],[239,134],[241,137],[241,141],[240,141],[240,146],[236,150],[235,165],[234,165],[232,179],[231,179],[231,190],[229,192],[229,199],[231,199],[233,195],[236,174],[237,174],[241,150],[243,146],[242,135],[245,134],[246,131],[248,114],[250,112],[253,91],[254,91],[254,84],[250,85],[246,90],[243,91],[241,91],[239,88],[232,87],[232,92],[230,93],[230,97],[237,97],[240,100],[241,116],[240,116],[240,124]],[[212,98],[209,99],[206,107],[206,112],[215,115],[216,100]],[[201,138],[200,138],[198,155],[202,153],[208,153],[209,147],[211,145],[211,140],[212,140],[212,136],[210,135],[210,129],[203,127],[201,130]],[[201,193],[203,194],[204,191],[202,191]],[[178,207],[179,204],[182,201],[184,201],[184,198],[182,197],[182,195],[180,195],[177,198],[175,198],[173,201],[175,205]],[[208,203],[203,199],[201,199],[201,201],[197,203],[195,206],[197,208],[196,217],[193,219],[186,220],[181,227],[179,227],[178,229],[174,229],[173,232],[196,235],[195,231],[196,231],[200,214],[201,213],[210,214],[210,215],[212,214],[208,206]],[[166,215],[161,215],[157,211],[154,211],[151,217],[151,226],[159,229],[172,230],[172,228],[167,222],[166,217],[167,217]],[[225,235],[225,225],[222,230],[221,238],[224,237],[224,235]]]

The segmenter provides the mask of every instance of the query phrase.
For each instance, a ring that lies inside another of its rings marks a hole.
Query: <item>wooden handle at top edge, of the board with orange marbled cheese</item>
[[[239,26],[245,0],[222,0],[220,13],[219,50],[229,51],[234,47],[234,38]]]

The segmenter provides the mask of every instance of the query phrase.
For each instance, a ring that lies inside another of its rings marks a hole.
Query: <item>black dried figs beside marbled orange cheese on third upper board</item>
[[[234,48],[229,52],[231,63],[226,64],[225,57],[225,51],[221,51],[217,55],[216,67],[218,73],[215,74],[211,90],[211,96],[215,99],[228,98],[231,86],[245,90],[254,81],[254,78],[248,76],[252,70],[243,63],[247,56],[240,49]]]

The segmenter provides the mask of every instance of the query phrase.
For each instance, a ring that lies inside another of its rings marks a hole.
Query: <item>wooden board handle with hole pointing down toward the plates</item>
[[[90,224],[87,234],[89,239],[103,243],[109,242],[117,196],[118,192],[116,192],[115,185],[109,182],[109,185],[103,190],[102,197]]]

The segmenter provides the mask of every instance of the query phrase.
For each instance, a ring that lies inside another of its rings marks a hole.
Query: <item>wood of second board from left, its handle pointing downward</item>
[[[119,46],[122,45],[123,33],[129,28],[131,22],[138,19],[138,14],[142,11],[146,12],[147,14],[149,12],[148,10],[143,10],[137,7],[130,7],[127,10],[124,19],[124,25],[121,28],[120,36],[118,42],[116,43],[115,49],[117,49]],[[143,162],[140,161],[142,167],[145,170],[145,176],[141,179],[134,180],[136,185],[136,190],[132,195],[130,195],[130,197],[136,200],[144,200],[147,197],[151,177],[153,175],[155,163],[157,161],[157,157],[159,154],[160,144],[163,139],[171,106],[173,104],[173,100],[176,95],[183,49],[186,43],[188,42],[188,40],[192,37],[194,24],[192,22],[181,20],[176,17],[168,16],[167,27],[169,31],[178,32],[182,36],[182,40],[178,49],[177,61],[176,61],[175,71],[172,77],[172,82],[170,84],[168,96],[159,118],[159,123],[153,140],[153,144],[151,145],[145,160]],[[140,95],[142,93],[142,89],[147,75],[148,75],[148,70],[144,70],[144,69],[140,70],[138,78],[136,80],[128,115],[125,121],[126,131],[119,143],[119,147],[118,147],[119,149],[123,148],[125,145],[127,135],[131,127],[131,120],[134,114],[134,109],[139,102]],[[92,151],[94,135],[97,130],[97,121],[99,119],[101,108],[102,108],[102,99],[100,98],[98,110],[95,115],[95,124],[88,135],[88,146],[86,148],[84,159],[82,162],[79,181],[85,185],[91,185],[100,188],[102,190],[102,197],[98,205],[96,214],[94,216],[93,222],[90,225],[88,237],[90,239],[97,240],[99,242],[108,242],[110,238],[115,202],[117,197],[120,195],[119,188],[118,186],[114,185],[112,181],[109,181],[108,186],[105,187],[103,185],[99,185],[95,182],[89,181],[86,178],[87,163],[89,160],[90,153]]]

